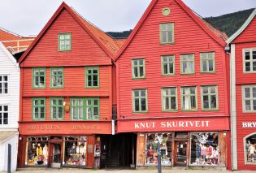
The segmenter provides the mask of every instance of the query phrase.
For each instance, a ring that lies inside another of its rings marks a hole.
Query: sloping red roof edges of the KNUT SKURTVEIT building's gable
[[[189,16],[208,34],[210,35],[210,37],[212,37],[215,41],[217,41],[219,43],[219,45],[226,45],[225,43],[225,38],[227,36],[225,36],[225,34],[223,32],[220,31],[214,27],[212,27],[210,24],[206,23],[206,21],[204,21],[203,19],[199,18],[197,15],[195,15],[193,13],[193,11],[191,11],[189,9],[188,6],[186,6],[184,4],[184,2],[182,2],[181,0],[175,0],[177,2],[178,5],[181,6],[181,8],[189,14]],[[119,56],[121,54],[123,54],[124,50],[128,47],[128,45],[130,44],[130,42],[132,41],[132,38],[136,35],[136,33],[138,32],[139,28],[141,28],[142,24],[144,23],[145,19],[147,18],[147,16],[150,14],[150,11],[154,8],[155,3],[158,2],[158,0],[152,0],[152,2],[150,2],[150,6],[147,7],[147,9],[145,10],[145,13],[142,15],[141,19],[139,20],[139,22],[137,23],[137,25],[135,26],[135,28],[132,30],[132,33],[130,34],[130,36],[128,37],[127,41],[125,41],[124,46],[122,46],[122,48],[119,50],[119,52],[116,54],[115,56],[115,60],[119,58]]]

